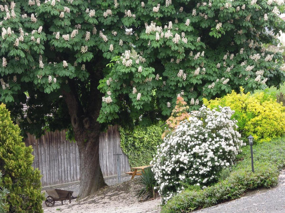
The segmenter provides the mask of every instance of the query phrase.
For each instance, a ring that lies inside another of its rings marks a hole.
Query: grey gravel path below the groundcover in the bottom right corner
[[[280,173],[278,185],[272,189],[252,191],[240,199],[195,211],[195,213],[200,212],[285,213],[285,170]]]

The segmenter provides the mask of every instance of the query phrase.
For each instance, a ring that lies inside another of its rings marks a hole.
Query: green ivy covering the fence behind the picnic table
[[[162,129],[158,125],[135,127],[133,130],[119,128],[121,148],[129,158],[131,167],[149,165],[153,155],[157,153],[156,146],[162,142]]]

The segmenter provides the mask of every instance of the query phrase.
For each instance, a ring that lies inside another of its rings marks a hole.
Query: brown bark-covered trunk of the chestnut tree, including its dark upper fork
[[[100,124],[96,121],[98,110],[88,113],[83,110],[76,91],[63,91],[68,107],[74,137],[80,157],[80,190],[78,197],[83,199],[106,185],[99,162]],[[99,105],[98,105],[99,106]],[[94,109],[93,109],[94,110]]]

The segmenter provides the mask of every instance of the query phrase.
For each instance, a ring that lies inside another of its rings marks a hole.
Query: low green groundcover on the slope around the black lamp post
[[[255,172],[251,172],[250,147],[243,148],[239,161],[227,178],[205,189],[186,189],[162,207],[162,213],[191,212],[223,201],[239,198],[245,191],[269,188],[278,182],[285,167],[285,138],[253,146]]]

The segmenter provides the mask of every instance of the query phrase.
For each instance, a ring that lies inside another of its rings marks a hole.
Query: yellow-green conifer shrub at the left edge
[[[0,168],[3,170],[1,187],[7,195],[9,212],[43,212],[40,171],[34,170],[32,146],[26,147],[20,128],[14,125],[10,112],[0,105]]]

